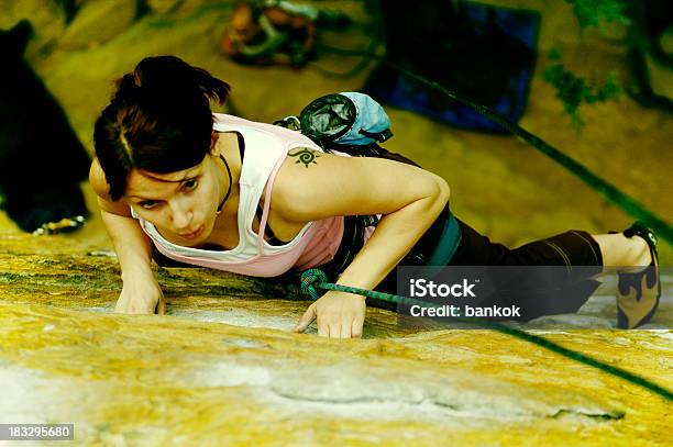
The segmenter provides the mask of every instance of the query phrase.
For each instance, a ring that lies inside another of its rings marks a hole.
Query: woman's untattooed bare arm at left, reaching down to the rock
[[[131,216],[128,205],[110,200],[104,174],[96,158],[89,170],[89,182],[98,195],[100,214],[121,268],[123,287],[114,311],[166,313],[166,302],[151,267],[152,241]]]

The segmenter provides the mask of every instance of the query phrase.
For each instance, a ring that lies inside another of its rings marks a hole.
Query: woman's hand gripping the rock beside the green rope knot
[[[309,305],[293,332],[304,332],[313,320],[318,320],[318,335],[321,337],[360,338],[365,310],[364,297],[329,291]]]

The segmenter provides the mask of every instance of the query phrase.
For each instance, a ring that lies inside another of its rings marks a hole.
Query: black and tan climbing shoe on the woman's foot
[[[632,329],[652,320],[661,298],[657,235],[641,222],[633,223],[622,234],[626,237],[642,237],[648,243],[652,258],[652,262],[641,271],[617,273],[619,278],[617,283],[617,326],[622,329]]]

